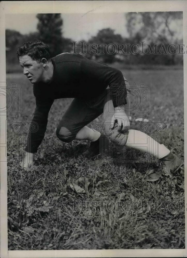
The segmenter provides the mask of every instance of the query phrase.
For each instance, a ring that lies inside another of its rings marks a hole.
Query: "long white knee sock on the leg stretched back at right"
[[[165,157],[170,152],[163,144],[158,143],[149,135],[137,130],[129,130],[126,146],[147,152],[156,156],[158,159]]]

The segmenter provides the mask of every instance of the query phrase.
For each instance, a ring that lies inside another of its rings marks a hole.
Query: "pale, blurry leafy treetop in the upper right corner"
[[[175,43],[180,37],[180,23],[182,30],[182,12],[131,12],[126,14],[126,19],[130,38],[136,39],[138,33],[146,43]],[[173,26],[173,21],[179,26]]]

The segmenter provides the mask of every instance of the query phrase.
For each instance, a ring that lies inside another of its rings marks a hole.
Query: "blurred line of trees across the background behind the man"
[[[182,12],[141,12],[127,13],[127,31],[128,38],[123,38],[120,34],[116,34],[111,28],[99,30],[95,36],[88,41],[82,39],[80,42],[72,42],[72,39],[63,37],[62,27],[63,19],[61,14],[37,14],[38,18],[37,31],[26,35],[20,34],[18,31],[6,29],[6,65],[7,72],[17,71],[17,48],[24,42],[41,40],[45,42],[51,52],[51,57],[63,52],[83,54],[89,59],[98,60],[105,63],[115,61],[123,62],[125,65],[139,64],[159,64],[159,65],[178,65],[183,64],[183,55],[176,53],[165,54],[165,50],[159,53],[143,54],[141,51],[137,54],[128,53],[127,46],[139,44],[141,41],[150,44],[153,48],[157,44],[160,50],[164,45],[165,49],[170,44],[182,44]],[[175,24],[175,27],[172,26]],[[180,29],[177,29],[181,28]],[[84,41],[84,44],[83,44]],[[102,48],[101,44],[109,46]],[[113,46],[112,46],[113,44]],[[94,51],[90,53],[88,45],[94,45]],[[99,46],[98,46],[99,45]],[[123,45],[123,51],[119,53],[119,45]],[[76,46],[76,49],[75,49]],[[81,47],[77,47],[81,46]],[[175,46],[172,46],[173,49]],[[170,47],[170,51],[172,51]],[[112,48],[112,49],[111,49]],[[136,48],[137,50],[138,48]],[[135,48],[133,48],[135,50]],[[127,53],[127,54],[125,54]]]

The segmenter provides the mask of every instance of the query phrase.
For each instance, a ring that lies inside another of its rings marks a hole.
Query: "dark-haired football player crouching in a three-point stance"
[[[90,140],[90,155],[98,155],[100,132],[87,124],[104,113],[105,131],[112,135],[114,143],[155,155],[162,160],[167,174],[180,167],[180,159],[163,144],[141,131],[129,130],[129,118],[124,111],[128,82],[121,71],[80,54],[63,53],[50,58],[48,46],[41,41],[24,43],[17,54],[24,75],[33,84],[36,109],[32,123],[38,124],[38,130],[31,133],[27,144],[23,168],[34,166],[34,153],[44,138],[49,110],[53,101],[60,98],[74,98],[57,127],[56,135],[61,141]],[[109,89],[113,85],[117,86],[116,94],[111,95]],[[118,130],[112,131],[111,125]]]

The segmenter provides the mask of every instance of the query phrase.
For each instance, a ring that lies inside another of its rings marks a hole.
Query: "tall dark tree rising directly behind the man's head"
[[[62,25],[59,13],[37,14],[39,39],[49,46],[51,57],[63,52]]]

